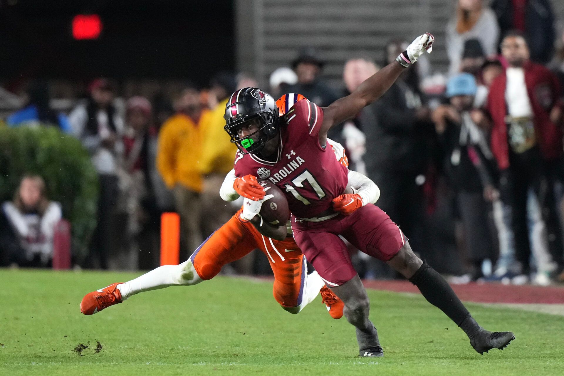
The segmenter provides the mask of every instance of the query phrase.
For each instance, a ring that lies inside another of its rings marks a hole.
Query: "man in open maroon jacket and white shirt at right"
[[[543,179],[562,158],[562,130],[555,123],[561,112],[559,85],[550,70],[529,61],[522,34],[509,33],[501,42],[501,52],[509,66],[492,82],[487,103],[493,122],[491,148],[501,171],[501,199],[512,207],[515,254],[522,273],[528,274],[531,254],[528,216],[533,219],[532,233],[537,234],[532,245],[537,272],[546,274],[554,266],[538,205]],[[527,205],[531,192],[537,202]]]

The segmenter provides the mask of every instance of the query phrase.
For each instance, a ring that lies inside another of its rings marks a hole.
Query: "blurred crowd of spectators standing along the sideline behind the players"
[[[413,249],[454,275],[451,282],[562,281],[564,33],[550,1],[459,0],[446,36],[447,72],[421,61],[329,137],[345,146],[351,169],[380,187],[377,205]],[[275,98],[295,92],[324,107],[407,45],[390,41],[383,61],[351,57],[342,88],[324,82],[324,61],[306,48],[261,87]],[[219,72],[208,87],[186,84],[173,98],[121,100],[116,83],[101,78],[90,83],[87,99],[62,113],[50,106],[49,85],[36,81],[6,124],[56,126],[89,151],[100,200],[85,267],[152,268],[161,213],[179,213],[186,259],[240,205],[218,192],[236,152],[223,114],[233,91],[257,85],[252,74]],[[43,185],[40,176],[24,176],[2,206],[12,229],[0,234],[2,244],[12,244],[4,247],[4,263],[49,263],[52,247],[37,243],[52,238],[61,210],[42,196]],[[36,219],[21,219],[29,215]],[[41,241],[31,241],[25,226],[35,226]],[[351,253],[362,277],[394,277],[377,260]],[[268,263],[252,254],[231,269],[261,273]]]

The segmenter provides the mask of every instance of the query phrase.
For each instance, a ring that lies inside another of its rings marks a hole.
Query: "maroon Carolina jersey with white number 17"
[[[235,175],[270,180],[286,194],[294,215],[311,218],[329,209],[331,200],[345,191],[347,168],[337,161],[331,147],[319,144],[321,108],[301,100],[285,118],[287,122],[280,125],[276,161],[238,152]]]

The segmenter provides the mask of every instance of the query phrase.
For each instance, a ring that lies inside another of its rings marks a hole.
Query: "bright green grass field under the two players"
[[[469,304],[486,328],[517,337],[480,356],[420,296],[369,291],[380,359],[356,357],[354,329],[320,298],[299,315],[283,311],[268,281],[218,277],[80,313],[85,293],[134,276],[0,269],[0,374],[564,374],[564,317]],[[82,356],[73,352],[87,342]]]

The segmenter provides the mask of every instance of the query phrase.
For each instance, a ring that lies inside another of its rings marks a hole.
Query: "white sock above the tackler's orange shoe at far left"
[[[122,300],[142,291],[164,289],[169,286],[196,285],[201,282],[190,259],[179,265],[164,265],[134,280],[117,285]]]

